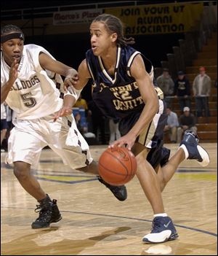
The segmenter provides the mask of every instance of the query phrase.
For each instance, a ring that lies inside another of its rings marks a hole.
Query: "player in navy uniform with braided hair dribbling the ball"
[[[81,90],[92,78],[95,104],[107,117],[120,120],[122,137],[110,147],[126,146],[132,150],[137,159],[137,177],[154,212],[153,228],[142,241],[174,240],[178,237],[177,230],[164,211],[161,191],[182,160],[196,159],[206,166],[209,155],[198,145],[197,136],[187,132],[179,150],[169,160],[169,150],[163,148],[167,118],[161,99],[163,93],[153,85],[152,64],[127,45],[133,41],[124,38],[121,20],[113,15],[95,18],[90,34],[92,49],[86,52],[86,59],[78,67],[78,81],[68,85],[73,90]],[[71,106],[73,104],[71,101]],[[60,116],[62,112],[58,112],[56,118]]]

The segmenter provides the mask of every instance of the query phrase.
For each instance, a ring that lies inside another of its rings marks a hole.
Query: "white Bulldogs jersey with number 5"
[[[62,79],[59,74],[42,69],[39,53],[47,50],[36,44],[26,44],[18,67],[18,77],[9,91],[6,102],[17,114],[17,119],[33,120],[57,112],[62,107],[60,90]],[[53,58],[53,57],[52,57]],[[55,59],[55,58],[53,58]],[[9,79],[10,67],[1,53],[1,86]]]

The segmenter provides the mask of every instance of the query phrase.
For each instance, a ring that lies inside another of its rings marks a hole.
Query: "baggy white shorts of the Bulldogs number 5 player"
[[[89,145],[67,117],[53,122],[54,115],[36,120],[15,120],[8,141],[6,162],[22,161],[37,167],[41,150],[49,146],[70,168],[81,168],[92,163]],[[68,141],[66,144],[66,140]]]

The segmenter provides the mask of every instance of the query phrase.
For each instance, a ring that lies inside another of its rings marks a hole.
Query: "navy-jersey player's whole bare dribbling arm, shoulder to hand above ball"
[[[158,112],[158,96],[151,81],[150,75],[145,70],[145,64],[141,55],[137,55],[131,66],[131,75],[137,82],[145,107],[142,110],[139,120],[125,136],[114,141],[110,146],[122,147],[127,144],[127,148],[131,150],[137,136],[142,133],[147,125],[153,120]]]

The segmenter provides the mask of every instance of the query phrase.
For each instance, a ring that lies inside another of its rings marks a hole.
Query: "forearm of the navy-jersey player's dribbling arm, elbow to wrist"
[[[158,106],[159,104],[157,97],[147,101],[139,120],[137,120],[137,123],[135,123],[129,133],[133,133],[136,137],[139,136],[140,133],[142,133],[142,131],[146,128],[146,126],[148,126],[153,120],[153,117],[158,112]]]

